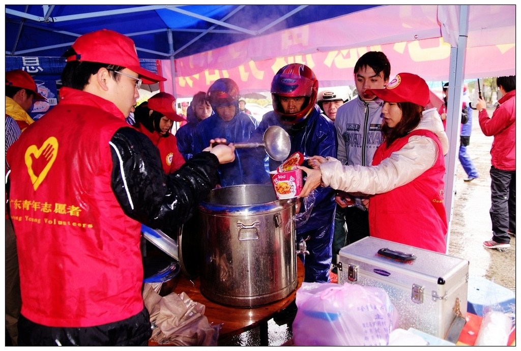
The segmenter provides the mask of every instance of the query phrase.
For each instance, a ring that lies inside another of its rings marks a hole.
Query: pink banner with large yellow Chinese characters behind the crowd
[[[206,69],[191,76],[176,77],[175,95],[178,98],[191,97],[198,91],[206,91],[208,86],[219,78],[233,79],[239,84],[243,94],[255,91],[266,92],[270,90],[271,80],[278,69],[292,62],[300,62],[312,68],[320,86],[354,85],[354,65],[358,58],[368,51],[382,51],[387,55],[391,62],[391,76],[400,72],[411,72],[426,81],[448,81],[451,47],[440,37],[258,61],[250,60],[237,67]],[[176,59],[176,70],[182,71],[179,65],[186,64],[189,59]],[[511,67],[515,67],[515,44],[467,48],[465,79],[515,74],[515,71],[512,73]],[[168,60],[163,60],[162,68],[163,75],[171,82],[172,74]],[[173,93],[170,82],[165,83],[165,91]]]

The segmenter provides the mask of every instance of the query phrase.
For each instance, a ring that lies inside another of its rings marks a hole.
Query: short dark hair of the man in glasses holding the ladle
[[[73,48],[67,50],[63,57],[77,55]],[[121,71],[125,67],[116,65],[101,64],[100,62],[89,61],[70,61],[67,62],[63,72],[61,72],[61,84],[63,86],[71,87],[72,89],[83,90],[85,85],[89,83],[89,79],[93,74],[96,74],[100,68],[107,68],[109,70]],[[113,73],[111,73],[113,74]],[[113,74],[116,81],[120,80],[120,74]]]

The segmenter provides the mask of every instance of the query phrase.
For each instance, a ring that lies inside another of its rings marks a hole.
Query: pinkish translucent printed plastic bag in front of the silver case
[[[302,283],[296,292],[297,346],[382,346],[398,323],[389,295],[374,286]]]

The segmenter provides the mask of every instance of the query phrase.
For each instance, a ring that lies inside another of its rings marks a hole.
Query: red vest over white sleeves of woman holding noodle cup
[[[438,158],[434,166],[413,181],[387,193],[371,197],[370,236],[445,253],[447,221],[443,205],[445,162],[438,137],[428,130],[416,130],[396,140],[389,148],[382,143],[373,165],[407,144],[409,137],[425,135],[436,141]]]

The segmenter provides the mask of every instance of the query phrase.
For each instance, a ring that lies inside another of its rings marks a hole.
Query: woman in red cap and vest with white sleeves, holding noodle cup
[[[371,93],[385,102],[383,142],[372,166],[343,166],[333,157],[313,156],[308,164],[315,169],[300,167],[307,173],[300,196],[319,185],[373,195],[367,202],[370,236],[445,253],[444,147],[437,130],[419,125],[429,87],[416,74],[399,73],[385,89]]]

